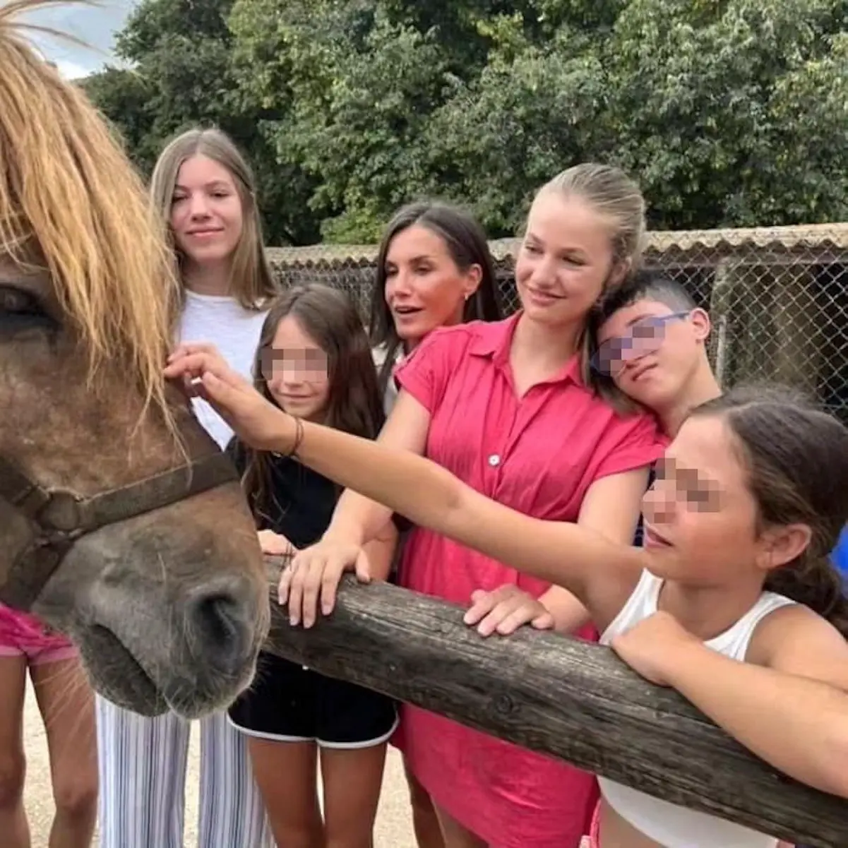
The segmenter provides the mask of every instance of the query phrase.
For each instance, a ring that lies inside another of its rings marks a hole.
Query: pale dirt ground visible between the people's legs
[[[44,727],[31,689],[27,692],[24,732],[27,758],[25,798],[32,830],[32,846],[33,848],[47,848],[47,834],[53,819],[53,798],[50,791],[50,769],[47,761]],[[197,766],[198,735],[192,733],[186,790],[185,848],[197,848]],[[95,840],[94,844],[98,845],[98,840]],[[412,834],[410,806],[407,801],[403,769],[398,752],[389,748],[380,809],[377,813],[375,848],[414,848],[414,846],[415,840]],[[147,848],[147,846],[144,846],[144,848]],[[154,846],[150,846],[150,848],[154,848]],[[204,846],[204,848],[210,848],[210,846]],[[218,848],[218,846],[215,846],[215,848]],[[224,846],[221,846],[221,848],[224,848]]]

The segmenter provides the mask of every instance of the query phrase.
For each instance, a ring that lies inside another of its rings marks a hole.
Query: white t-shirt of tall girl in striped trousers
[[[254,366],[259,336],[267,311],[246,310],[236,298],[186,292],[180,318],[180,342],[209,342],[220,350],[232,369],[248,380]],[[192,398],[195,415],[221,449],[232,438],[232,429],[205,400]]]

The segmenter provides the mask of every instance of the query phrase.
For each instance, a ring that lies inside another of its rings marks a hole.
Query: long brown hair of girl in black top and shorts
[[[272,302],[254,358],[257,391],[276,404],[262,376],[262,360],[271,349],[277,326],[289,315],[327,356],[329,391],[323,423],[354,436],[377,438],[385,416],[368,336],[353,302],[336,288],[321,283],[294,286]],[[242,486],[251,510],[254,516],[267,514],[271,455],[246,445],[239,449],[245,460]]]

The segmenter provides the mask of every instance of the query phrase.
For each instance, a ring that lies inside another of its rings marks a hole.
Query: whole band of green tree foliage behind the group
[[[845,0],[142,0],[88,90],[142,167],[217,124],[269,242],[373,241],[453,199],[493,237],[587,159],[652,226],[848,218]]]

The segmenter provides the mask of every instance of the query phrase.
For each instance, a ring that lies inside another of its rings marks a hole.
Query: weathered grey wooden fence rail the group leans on
[[[332,616],[292,628],[266,561],[271,653],[793,844],[848,845],[848,801],[768,766],[608,648],[532,628],[484,639],[456,605],[353,577]]]

